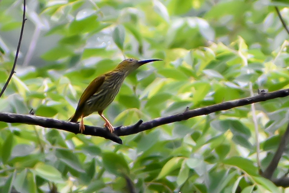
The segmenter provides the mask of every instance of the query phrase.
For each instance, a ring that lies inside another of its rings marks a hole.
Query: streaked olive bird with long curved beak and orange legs
[[[119,63],[114,70],[104,73],[95,79],[83,91],[78,101],[75,113],[69,118],[70,122],[79,123],[79,131],[84,131],[83,118],[97,112],[104,119],[104,127],[113,133],[114,127],[104,116],[103,111],[112,103],[124,79],[138,67],[149,62],[162,61],[161,59],[136,60],[127,58]]]

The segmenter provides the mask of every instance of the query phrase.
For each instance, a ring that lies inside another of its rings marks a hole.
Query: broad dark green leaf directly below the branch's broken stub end
[[[102,159],[106,171],[115,175],[130,173],[130,169],[123,155],[113,152],[104,152],[102,154]]]

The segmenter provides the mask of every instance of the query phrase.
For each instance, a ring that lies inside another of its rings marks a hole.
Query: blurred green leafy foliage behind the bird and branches
[[[22,1],[0,1],[0,85],[14,59]],[[16,74],[1,112],[67,120],[87,84],[125,58],[142,66],[105,111],[117,125],[288,88],[288,2],[270,0],[29,0]],[[289,98],[234,108],[124,144],[0,123],[0,187],[9,192],[287,192],[261,177],[288,122]],[[103,125],[93,114],[87,125]],[[257,128],[255,127],[255,125]],[[259,142],[256,140],[258,131]],[[287,174],[288,150],[274,177]]]

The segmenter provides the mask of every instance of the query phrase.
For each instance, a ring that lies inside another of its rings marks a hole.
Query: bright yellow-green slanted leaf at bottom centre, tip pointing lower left
[[[183,157],[173,157],[172,159],[168,160],[168,162],[161,168],[161,172],[158,174],[156,180],[162,179],[172,171],[180,168],[183,159]]]

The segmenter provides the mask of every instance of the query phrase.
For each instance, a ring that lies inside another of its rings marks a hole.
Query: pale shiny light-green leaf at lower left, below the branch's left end
[[[47,165],[45,163],[37,163],[32,172],[48,181],[52,182],[62,182],[62,177],[60,171],[55,167]]]

